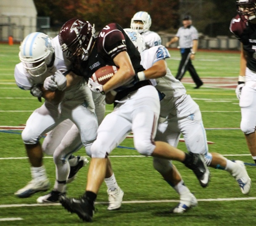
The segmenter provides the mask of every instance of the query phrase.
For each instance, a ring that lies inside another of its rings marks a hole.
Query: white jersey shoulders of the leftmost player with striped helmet
[[[60,49],[58,36],[52,39],[52,46],[55,51],[55,60],[52,67],[47,67],[47,71],[41,76],[31,76],[26,69],[24,69],[22,62],[16,64],[14,69],[14,77],[16,84],[23,90],[31,90],[34,85],[43,84],[44,80],[54,75],[57,70],[62,73],[71,69],[71,62],[67,59],[66,54]]]

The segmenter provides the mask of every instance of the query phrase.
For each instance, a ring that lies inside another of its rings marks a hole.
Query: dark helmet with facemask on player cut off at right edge
[[[249,21],[256,18],[256,0],[237,0],[237,12]]]

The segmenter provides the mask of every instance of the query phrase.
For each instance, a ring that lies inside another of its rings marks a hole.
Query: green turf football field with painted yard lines
[[[76,214],[71,215],[59,204],[37,205],[37,193],[30,198],[16,198],[13,193],[24,187],[29,180],[30,167],[21,130],[4,126],[20,126],[26,123],[32,111],[41,103],[20,90],[13,77],[18,59],[18,45],[0,44],[0,225],[1,226],[77,226],[84,223]],[[167,60],[176,74],[180,54],[170,50]],[[239,53],[199,51],[193,62],[204,85],[195,86],[187,73],[182,80],[188,94],[199,104],[210,152],[219,152],[228,159],[240,159],[247,163],[252,180],[251,193],[243,195],[237,182],[226,171],[210,169],[209,187],[201,188],[193,172],[179,162],[174,162],[185,184],[194,193],[199,205],[181,215],[168,211],[178,202],[178,195],[153,169],[151,157],[141,157],[133,150],[133,140],[125,139],[111,156],[112,167],[118,184],[125,196],[119,211],[107,211],[106,186],[103,184],[97,198],[97,213],[91,225],[97,226],[230,226],[256,224],[256,167],[249,155],[243,133],[240,131],[240,108],[235,96],[239,72]],[[227,83],[227,87],[221,85]],[[112,110],[107,105],[107,113]],[[178,148],[186,151],[185,144]],[[84,156],[84,149],[78,154]],[[44,158],[47,174],[53,186],[55,166],[51,157]],[[68,195],[78,197],[84,193],[88,166],[79,171],[74,182],[68,185]],[[7,219],[4,219],[7,218]],[[10,221],[14,218],[14,221]]]

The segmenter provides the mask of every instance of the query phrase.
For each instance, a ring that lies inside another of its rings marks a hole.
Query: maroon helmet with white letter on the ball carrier
[[[79,57],[86,61],[95,41],[94,33],[94,26],[88,21],[73,18],[60,29],[60,48],[63,52],[67,51],[68,59]]]

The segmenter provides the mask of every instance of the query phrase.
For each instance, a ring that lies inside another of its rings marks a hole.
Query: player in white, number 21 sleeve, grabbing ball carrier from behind
[[[188,152],[203,154],[208,166],[230,172],[238,182],[242,193],[248,194],[251,188],[251,179],[246,172],[244,163],[232,162],[218,153],[209,153],[199,105],[190,95],[186,94],[183,84],[173,77],[167,67],[165,59],[170,58],[167,49],[160,45],[143,51],[143,39],[140,34],[131,29],[125,29],[125,32],[141,52],[141,65],[148,69],[144,71],[145,77],[155,79],[152,80],[152,84],[162,96],[155,140],[165,141],[176,147],[182,134]],[[172,210],[173,213],[183,213],[196,205],[196,198],[185,187],[183,180],[170,161],[154,157],[153,163],[154,168],[180,195],[180,203]]]

